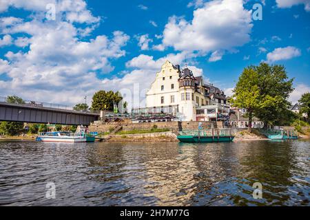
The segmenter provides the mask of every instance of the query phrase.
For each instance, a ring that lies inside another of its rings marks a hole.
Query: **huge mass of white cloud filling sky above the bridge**
[[[45,5],[41,5],[44,1],[12,2],[7,5],[45,10]],[[60,20],[44,21],[40,14],[32,14],[26,22],[13,17],[1,18],[2,34],[23,34],[14,43],[19,47],[30,45],[26,51],[8,51],[5,54],[8,61],[0,60],[0,74],[8,77],[6,81],[0,80],[1,95],[18,94],[25,99],[76,104],[83,101],[83,96],[91,97],[103,89],[103,80],[98,75],[112,71],[110,62],[125,56],[123,47],[130,39],[127,34],[115,31],[109,36],[82,41],[79,35],[83,29],[87,32],[87,28],[92,28],[96,18],[84,14],[88,11],[84,1],[57,2],[64,13]],[[1,6],[2,10],[8,8]],[[70,10],[64,11],[65,8]],[[76,22],[85,23],[85,28],[76,27]]]

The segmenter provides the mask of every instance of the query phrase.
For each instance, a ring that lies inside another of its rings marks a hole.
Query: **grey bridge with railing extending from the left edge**
[[[62,104],[23,100],[21,104],[9,103],[0,97],[0,121],[42,124],[90,125],[99,120],[100,113],[74,111]]]

